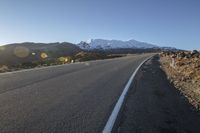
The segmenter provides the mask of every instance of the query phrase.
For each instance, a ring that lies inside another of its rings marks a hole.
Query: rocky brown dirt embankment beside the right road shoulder
[[[200,52],[164,52],[160,57],[168,79],[200,110]]]

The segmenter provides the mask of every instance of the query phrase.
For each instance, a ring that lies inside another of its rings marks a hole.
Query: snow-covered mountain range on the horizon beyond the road
[[[91,39],[89,41],[82,41],[78,44],[81,49],[147,49],[147,48],[159,48],[156,45],[139,42],[136,40],[121,41],[121,40],[104,40],[104,39]]]

